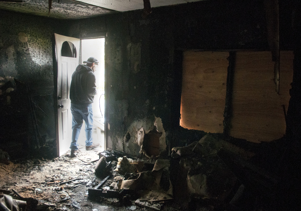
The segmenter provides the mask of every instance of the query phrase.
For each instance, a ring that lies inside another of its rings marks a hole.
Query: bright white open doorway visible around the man
[[[106,149],[105,143],[105,38],[81,39],[80,64],[89,57],[95,57],[98,60],[98,68],[94,72],[96,76],[97,95],[94,96],[92,103],[93,109],[93,142],[100,143],[98,150]],[[85,124],[80,130],[79,144],[85,146],[86,134]]]

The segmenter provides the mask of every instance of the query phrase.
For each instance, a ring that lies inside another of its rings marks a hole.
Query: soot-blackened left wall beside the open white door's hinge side
[[[19,149],[19,153],[10,153],[18,157],[28,154],[28,145],[34,143],[29,132],[33,128],[28,94],[37,105],[39,133],[55,143],[52,39],[64,29],[64,21],[8,11],[0,14],[0,141],[8,152]],[[7,93],[5,84],[13,90]]]

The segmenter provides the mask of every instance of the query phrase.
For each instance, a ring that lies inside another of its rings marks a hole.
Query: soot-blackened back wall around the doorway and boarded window
[[[292,8],[282,1],[280,8],[281,48],[289,50]],[[153,8],[146,19],[141,14],[78,20],[69,33],[105,33],[107,146],[136,155],[137,131],[152,130],[155,117],[169,149],[203,135],[179,127],[183,49],[269,50],[262,1],[201,1]]]

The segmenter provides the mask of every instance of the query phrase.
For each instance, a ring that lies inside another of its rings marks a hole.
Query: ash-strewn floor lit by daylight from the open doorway
[[[131,199],[101,197],[91,200],[88,189],[95,188],[104,179],[96,176],[94,172],[99,151],[86,151],[84,148],[80,150],[81,153],[77,157],[70,157],[68,151],[52,160],[10,161],[9,165],[0,163],[0,189],[2,192],[6,190],[6,193],[14,199],[36,199],[37,210],[155,210],[140,207]],[[149,162],[155,161],[149,160]],[[116,165],[116,161],[112,162],[111,176],[103,188],[116,182],[116,179],[124,178],[118,172],[112,171],[116,169]],[[162,205],[161,210],[186,209],[185,204],[178,204],[174,200],[166,200]]]

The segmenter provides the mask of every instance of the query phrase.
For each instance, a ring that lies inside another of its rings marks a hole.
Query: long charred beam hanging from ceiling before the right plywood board
[[[276,92],[279,94],[279,2],[278,0],[265,0],[265,14],[268,29],[268,44],[272,53],[272,61],[274,64],[274,83]]]

